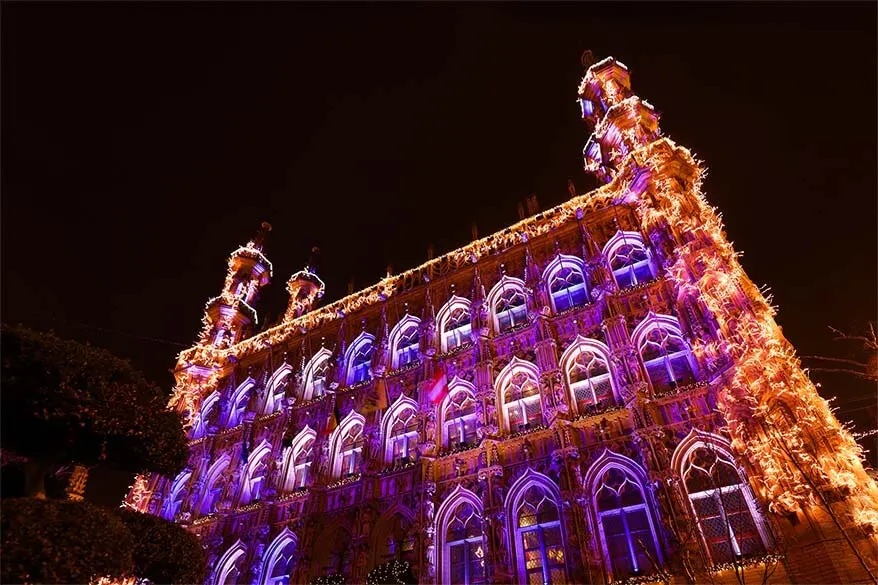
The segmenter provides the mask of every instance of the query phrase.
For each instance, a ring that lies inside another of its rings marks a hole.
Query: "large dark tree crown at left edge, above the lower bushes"
[[[38,461],[174,476],[188,451],[167,396],[126,360],[51,333],[3,326],[2,440]]]

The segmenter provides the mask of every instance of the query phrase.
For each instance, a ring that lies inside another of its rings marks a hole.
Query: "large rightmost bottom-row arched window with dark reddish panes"
[[[768,542],[753,495],[727,449],[722,438],[693,430],[673,457],[714,564],[762,554]]]

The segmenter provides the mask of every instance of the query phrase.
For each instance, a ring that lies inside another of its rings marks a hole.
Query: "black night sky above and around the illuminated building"
[[[2,319],[168,390],[262,220],[270,323],[315,244],[332,300],[592,187],[584,49],[706,162],[801,355],[852,356],[828,326],[876,320],[875,3],[3,8]],[[874,385],[814,378],[875,426]]]

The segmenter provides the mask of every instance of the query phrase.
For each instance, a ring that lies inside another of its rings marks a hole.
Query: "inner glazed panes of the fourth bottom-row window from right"
[[[447,522],[444,536],[447,582],[461,585],[487,583],[480,511],[472,503],[461,501]]]

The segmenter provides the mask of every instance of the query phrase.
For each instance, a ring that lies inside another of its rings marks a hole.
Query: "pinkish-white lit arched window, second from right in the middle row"
[[[579,414],[595,412],[615,402],[609,353],[603,343],[578,337],[561,357],[570,396]]]

